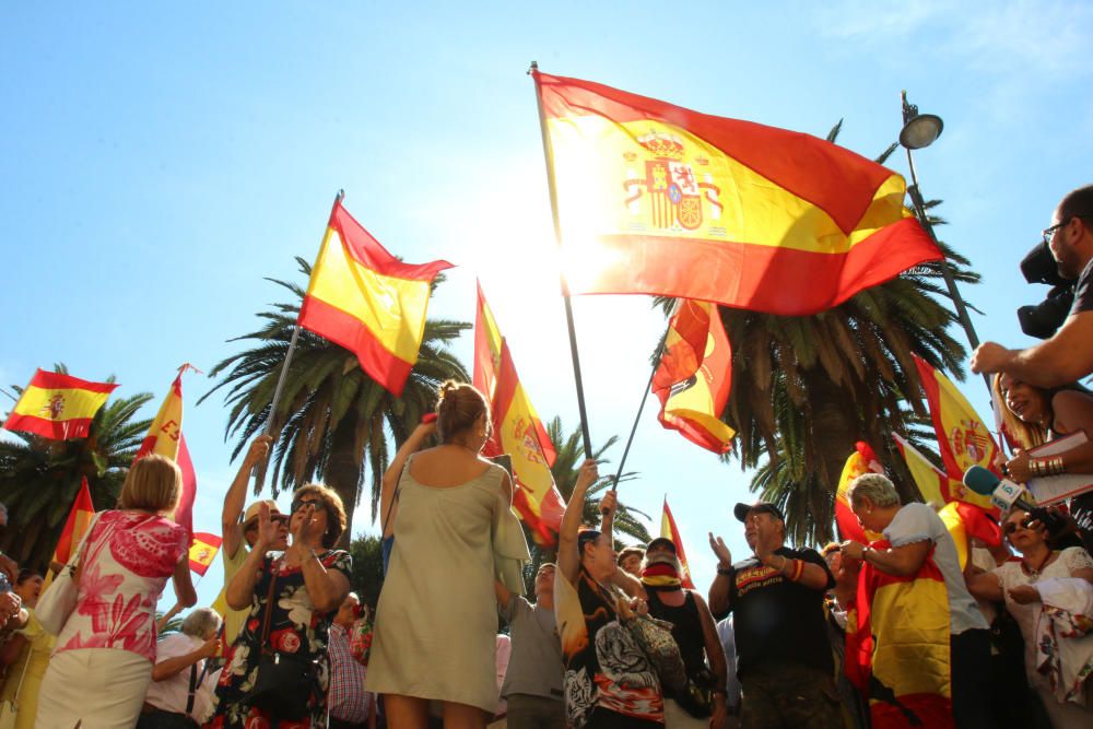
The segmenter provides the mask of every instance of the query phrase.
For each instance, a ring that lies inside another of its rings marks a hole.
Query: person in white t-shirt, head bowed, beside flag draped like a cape
[[[844,557],[896,577],[918,575],[928,558],[941,572],[949,601],[953,719],[962,729],[992,726],[985,701],[990,675],[987,621],[967,591],[956,545],[941,517],[926,504],[901,504],[895,486],[879,473],[855,479],[847,499],[861,526],[883,533],[890,546],[875,549],[848,541],[842,545]]]

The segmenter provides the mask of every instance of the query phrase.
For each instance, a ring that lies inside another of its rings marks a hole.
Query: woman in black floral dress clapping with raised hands
[[[227,654],[212,727],[327,726],[327,635],[352,569],[333,549],[345,509],[337,493],[308,484],[292,495],[291,515],[291,545],[270,552],[285,527],[261,505],[255,546],[227,585],[227,605],[250,612]]]

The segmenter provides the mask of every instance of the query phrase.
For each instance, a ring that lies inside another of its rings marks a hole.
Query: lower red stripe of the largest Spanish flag
[[[687,239],[682,245],[677,238],[640,235],[601,236],[598,242],[608,249],[606,256],[642,264],[604,267],[587,283],[571,282],[574,294],[662,294],[784,316],[828,309],[900,271],[938,260],[933,242],[912,217],[879,230],[842,255],[737,240]],[[837,285],[816,285],[832,280]]]

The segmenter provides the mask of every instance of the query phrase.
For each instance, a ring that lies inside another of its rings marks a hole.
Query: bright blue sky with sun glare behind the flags
[[[281,299],[263,277],[314,258],[343,188],[391,251],[460,266],[432,315],[473,320],[481,277],[540,414],[575,426],[531,60],[818,136],[844,118],[839,142],[867,156],[898,133],[907,89],[945,121],[916,163],[944,200],[943,237],[983,273],[964,292],[979,334],[1027,342],[1013,310],[1046,291],[1018,261],[1091,181],[1091,21],[1090,4],[1053,1],[7,3],[0,385],[64,362],[157,405],[179,364],[208,372]],[[906,174],[902,155],[890,165]],[[575,315],[592,438],[624,436],[663,319],[643,297],[579,299]],[[469,363],[470,338],[456,351]],[[185,430],[195,524],[216,531],[235,466],[220,399],[195,407],[211,385],[187,377]],[[986,414],[978,380],[963,389]],[[729,514],[751,498],[738,465],[650,407],[628,467],[640,479],[621,499],[656,520],[669,494],[701,588],[706,531],[747,552]],[[354,530],[373,529],[362,510]]]

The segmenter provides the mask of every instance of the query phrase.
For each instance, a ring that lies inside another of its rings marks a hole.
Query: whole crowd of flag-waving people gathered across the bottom
[[[1018,483],[1093,474],[1093,186],[1068,195],[1044,231],[1077,280],[1058,333],[1027,350],[980,346],[1007,434],[998,467]],[[847,498],[869,543],[786,543],[777,505],[736,504],[751,553],[709,534],[706,596],[684,587],[666,538],[615,550],[615,494],[583,524],[596,462],[562,518],[556,562],[530,558],[512,475],[481,456],[492,416],[469,385],[445,384],[436,418],[383,480],[386,579],[375,615],[350,591],[346,528],[333,491],[309,484],[287,514],[246,506],[255,439],[222,514],[219,610],[192,608],[187,531],[172,515],[178,467],[148,456],[116,508],[97,514],[36,615],[43,575],[0,555],[3,726],[611,729],[1093,726],[1093,492],[1061,508],[1000,515],[1004,540],[962,555],[933,505],[904,503],[867,473]],[[426,447],[430,440],[436,445]],[[246,508],[245,508],[246,506]],[[0,508],[0,520],[7,512]],[[172,584],[176,609],[155,605]],[[60,590],[61,588],[55,588]],[[48,613],[48,615],[47,615]],[[39,621],[38,618],[42,618]],[[48,618],[48,620],[47,620]],[[500,623],[498,623],[500,618]],[[498,635],[498,626],[504,630]]]

